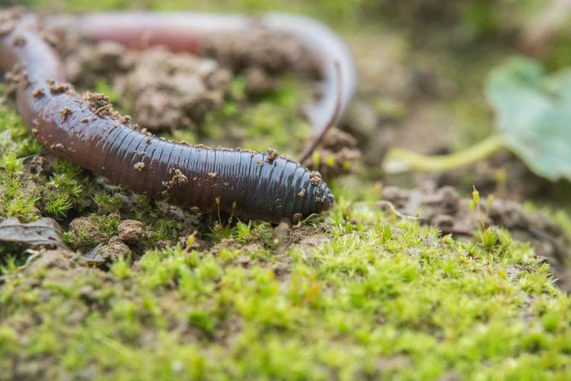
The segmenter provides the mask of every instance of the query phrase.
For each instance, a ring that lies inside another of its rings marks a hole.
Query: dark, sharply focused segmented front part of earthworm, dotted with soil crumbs
[[[295,222],[332,205],[319,173],[275,151],[174,143],[131,125],[106,96],[79,95],[64,83],[59,57],[37,31],[36,18],[10,17],[0,12],[0,71],[20,67],[22,121],[56,155],[137,193],[205,213]]]

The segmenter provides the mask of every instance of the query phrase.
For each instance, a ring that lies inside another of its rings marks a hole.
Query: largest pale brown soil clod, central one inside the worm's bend
[[[138,55],[133,70],[116,83],[150,130],[196,128],[230,91],[231,73],[212,60],[163,49],[131,54]]]

